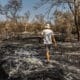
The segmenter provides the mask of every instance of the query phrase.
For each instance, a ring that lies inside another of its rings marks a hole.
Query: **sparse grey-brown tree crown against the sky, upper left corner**
[[[0,5],[0,14],[6,16],[7,19],[17,21],[18,12],[22,7],[22,0],[8,0],[8,3]]]

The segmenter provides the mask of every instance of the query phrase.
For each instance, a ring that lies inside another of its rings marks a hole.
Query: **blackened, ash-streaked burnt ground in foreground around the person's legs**
[[[43,44],[1,42],[0,80],[80,80],[80,43],[58,42],[46,63]]]

